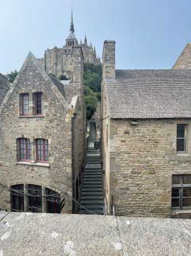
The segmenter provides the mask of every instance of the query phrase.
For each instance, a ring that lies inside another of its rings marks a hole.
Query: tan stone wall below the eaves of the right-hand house
[[[110,121],[110,165],[105,164],[105,173],[110,172],[109,180],[106,179],[110,189],[109,213],[113,196],[117,216],[171,216],[172,175],[191,174],[191,121],[136,122]],[[176,154],[177,123],[186,124],[186,154]],[[105,146],[104,151],[108,152]]]

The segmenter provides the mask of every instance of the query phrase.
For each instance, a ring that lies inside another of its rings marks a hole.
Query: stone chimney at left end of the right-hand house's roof
[[[103,78],[116,79],[116,42],[105,40],[102,55]]]

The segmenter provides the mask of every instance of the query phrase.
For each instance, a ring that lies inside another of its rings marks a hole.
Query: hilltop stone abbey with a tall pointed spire
[[[54,75],[64,74],[68,79],[73,77],[73,46],[82,47],[84,62],[94,64],[100,63],[100,58],[96,56],[96,49],[92,44],[87,43],[85,35],[84,43],[82,40],[78,43],[74,34],[73,13],[71,11],[70,34],[66,38],[66,43],[63,47],[55,46],[53,49],[47,49],[44,53],[45,71]]]

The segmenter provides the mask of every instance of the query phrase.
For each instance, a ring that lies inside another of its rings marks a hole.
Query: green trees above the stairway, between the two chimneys
[[[96,111],[97,102],[101,100],[101,64],[84,63],[84,100],[86,117],[90,119]]]

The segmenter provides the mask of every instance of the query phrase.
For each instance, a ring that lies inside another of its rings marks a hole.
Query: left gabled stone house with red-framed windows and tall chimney
[[[73,71],[73,84],[65,86],[29,52],[3,100],[1,209],[75,212],[70,196],[78,200],[86,145],[83,53],[78,46],[73,46]]]

